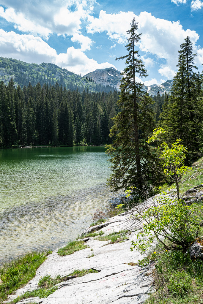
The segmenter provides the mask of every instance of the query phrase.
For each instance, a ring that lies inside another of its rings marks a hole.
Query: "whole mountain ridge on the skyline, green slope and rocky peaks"
[[[105,69],[96,69],[87,73],[83,77],[61,68],[53,63],[26,63],[22,60],[13,58],[0,57],[0,81],[4,81],[8,85],[9,80],[13,78],[14,85],[23,88],[29,82],[35,86],[38,82],[41,85],[55,85],[58,82],[62,87],[70,90],[78,90],[82,92],[84,89],[90,92],[110,92],[116,89],[119,91],[121,84],[121,72],[114,67]],[[149,95],[169,93],[173,80],[167,80],[160,85],[153,84],[150,86],[144,85],[145,92]]]

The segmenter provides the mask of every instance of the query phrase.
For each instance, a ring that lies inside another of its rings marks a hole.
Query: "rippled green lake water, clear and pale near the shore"
[[[0,260],[56,249],[77,237],[96,208],[122,192],[106,188],[104,147],[0,150]]]

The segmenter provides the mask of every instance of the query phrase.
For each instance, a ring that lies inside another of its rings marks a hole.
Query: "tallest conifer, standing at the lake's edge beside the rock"
[[[137,28],[138,24],[133,18],[131,29],[127,31],[128,54],[117,58],[125,59],[128,66],[121,73],[125,77],[121,79],[121,94],[117,102],[120,112],[114,118],[114,126],[110,130],[114,141],[108,146],[107,153],[111,157],[113,170],[108,185],[114,191],[135,186],[139,195],[142,195],[142,191],[149,190],[156,178],[152,170],[153,155],[145,142],[154,125],[154,114],[149,109],[152,100],[143,92],[143,84],[135,80],[135,74],[141,78],[147,76],[138,50],[135,50],[135,43],[139,42],[141,36],[135,33]]]

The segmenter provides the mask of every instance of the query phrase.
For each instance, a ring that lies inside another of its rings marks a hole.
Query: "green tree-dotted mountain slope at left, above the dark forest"
[[[74,74],[66,69],[58,67],[52,63],[26,63],[21,60],[12,58],[0,57],[0,81],[4,81],[8,85],[9,80],[13,77],[15,87],[20,85],[28,86],[29,82],[32,86],[47,83],[48,85],[55,85],[58,82],[62,87],[66,89],[76,90],[82,92],[85,88],[91,92],[110,92],[114,91],[114,87],[110,85],[103,86],[97,84],[92,80],[81,77],[80,75]]]

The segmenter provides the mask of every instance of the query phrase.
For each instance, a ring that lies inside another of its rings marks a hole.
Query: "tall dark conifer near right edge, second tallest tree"
[[[178,72],[174,77],[168,106],[164,109],[161,126],[169,131],[171,142],[176,138],[183,140],[188,148],[188,158],[197,157],[200,149],[198,132],[200,129],[200,109],[197,98],[200,84],[197,84],[198,74],[194,73],[194,57],[190,37],[180,45],[178,57]]]

